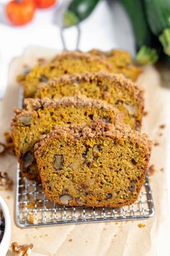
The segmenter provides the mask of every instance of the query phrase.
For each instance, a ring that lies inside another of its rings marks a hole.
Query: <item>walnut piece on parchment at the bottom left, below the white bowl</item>
[[[15,256],[30,256],[32,252],[33,244],[22,244],[19,245],[17,242],[13,242],[11,245],[11,251],[15,254]]]

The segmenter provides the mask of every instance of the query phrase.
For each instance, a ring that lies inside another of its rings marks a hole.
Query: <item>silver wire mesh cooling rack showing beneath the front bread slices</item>
[[[22,178],[17,169],[17,225],[20,227],[51,226],[97,221],[128,221],[149,218],[154,214],[151,187],[146,176],[138,200],[120,208],[66,207],[50,202],[42,191],[42,185]],[[37,223],[30,223],[33,214]]]

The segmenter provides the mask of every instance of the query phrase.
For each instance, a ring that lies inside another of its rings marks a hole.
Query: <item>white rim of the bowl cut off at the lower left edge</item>
[[[0,255],[5,256],[6,252],[9,249],[9,244],[11,242],[11,236],[12,236],[12,224],[11,224],[11,218],[9,215],[9,210],[6,206],[5,201],[0,197],[0,209],[2,209],[4,218],[5,218],[5,231],[3,239],[0,243]]]

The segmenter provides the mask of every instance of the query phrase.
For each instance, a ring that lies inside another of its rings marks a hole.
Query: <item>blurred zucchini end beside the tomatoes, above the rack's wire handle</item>
[[[94,8],[97,6],[99,0],[73,0],[68,6],[68,9],[63,14],[63,25],[71,27],[85,20]]]

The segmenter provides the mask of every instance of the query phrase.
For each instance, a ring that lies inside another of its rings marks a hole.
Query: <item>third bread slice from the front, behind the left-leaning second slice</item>
[[[122,74],[96,72],[65,75],[41,85],[35,98],[53,99],[75,93],[107,101],[124,113],[125,124],[140,130],[144,106],[143,90]]]

